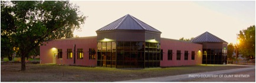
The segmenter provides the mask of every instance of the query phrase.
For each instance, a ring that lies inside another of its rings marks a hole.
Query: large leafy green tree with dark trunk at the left
[[[69,1],[1,1],[1,36],[19,48],[21,71],[33,49],[49,39],[73,37],[74,29],[80,29],[86,19],[79,14],[78,6]]]

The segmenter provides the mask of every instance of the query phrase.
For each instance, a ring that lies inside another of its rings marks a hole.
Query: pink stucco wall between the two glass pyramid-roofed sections
[[[182,65],[202,64],[202,45],[192,42],[178,41],[175,39],[161,38],[161,49],[163,49],[163,61],[160,61],[160,67],[173,67]],[[168,60],[168,49],[174,53],[172,60]],[[180,50],[180,60],[176,60],[176,51]],[[200,50],[200,51],[199,51]],[[188,60],[184,60],[184,52],[188,51]],[[191,51],[195,51],[195,60],[191,59]]]

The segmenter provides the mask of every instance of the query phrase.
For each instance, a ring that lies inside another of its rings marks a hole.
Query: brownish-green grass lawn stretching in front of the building
[[[1,64],[1,82],[52,82],[52,81],[124,81],[170,75],[191,74],[197,72],[218,71],[224,69],[245,68],[228,65],[196,65],[186,67],[116,69],[90,68],[60,65],[27,64],[27,71],[19,71],[20,64]]]

